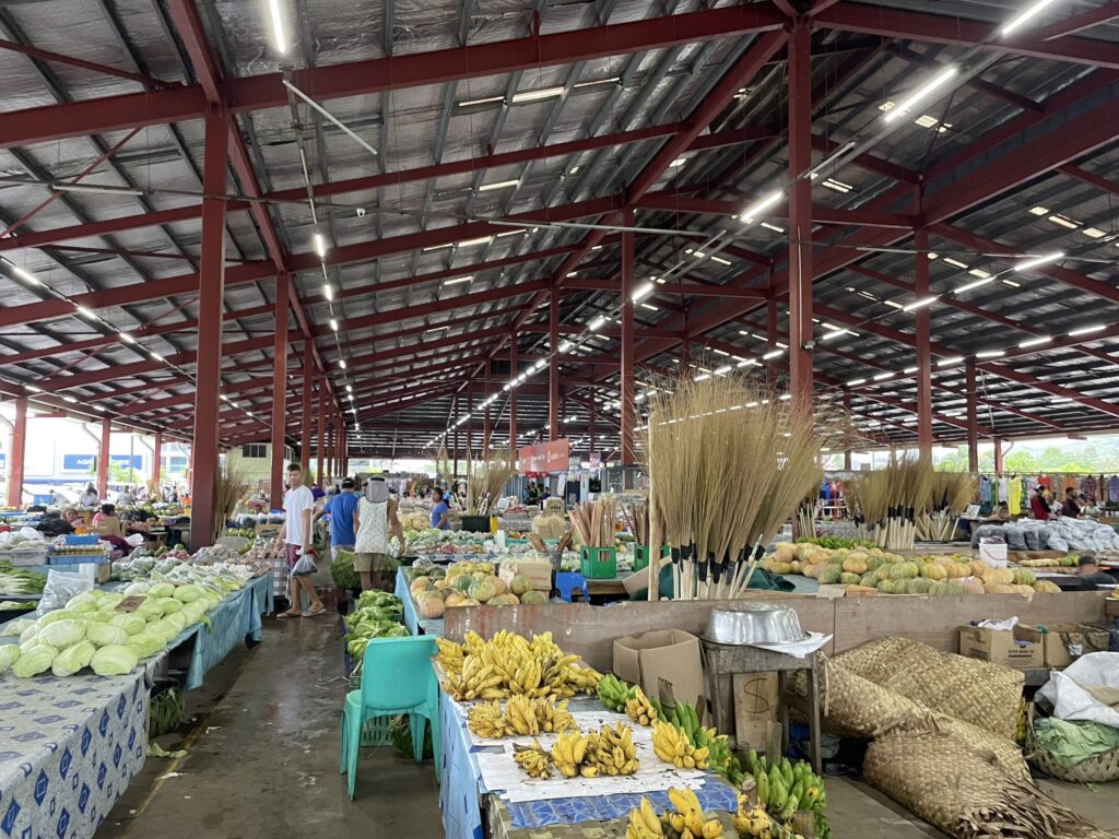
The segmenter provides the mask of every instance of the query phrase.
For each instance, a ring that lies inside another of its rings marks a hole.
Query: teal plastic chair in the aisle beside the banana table
[[[408,715],[416,763],[423,761],[424,726],[430,722],[435,780],[440,780],[439,679],[431,663],[435,653],[431,635],[383,638],[365,648],[361,687],[346,695],[342,707],[341,773],[348,775],[350,801],[357,785],[361,729],[376,717]]]

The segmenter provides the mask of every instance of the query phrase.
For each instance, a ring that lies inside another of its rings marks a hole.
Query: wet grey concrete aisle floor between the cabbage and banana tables
[[[175,764],[149,757],[97,839],[442,837],[430,763],[374,750],[363,758],[356,800],[346,800],[338,774],[342,682],[331,681],[341,671],[338,632],[333,614],[266,619],[260,647],[234,652],[207,676],[203,690],[224,696],[203,709],[209,716],[189,754]],[[158,780],[169,770],[179,775]]]

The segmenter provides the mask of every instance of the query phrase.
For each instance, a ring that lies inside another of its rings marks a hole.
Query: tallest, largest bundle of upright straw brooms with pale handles
[[[671,548],[676,596],[737,596],[760,547],[818,492],[827,439],[810,412],[737,375],[680,379],[651,403],[650,515]]]

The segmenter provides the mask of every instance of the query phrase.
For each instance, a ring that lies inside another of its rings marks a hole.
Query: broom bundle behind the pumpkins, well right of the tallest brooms
[[[885,469],[859,472],[847,483],[847,506],[862,519],[859,537],[886,550],[910,550],[916,539],[918,511],[932,487],[928,456],[892,452]]]

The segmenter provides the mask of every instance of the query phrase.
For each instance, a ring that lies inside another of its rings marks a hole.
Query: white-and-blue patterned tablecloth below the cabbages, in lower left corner
[[[0,837],[88,839],[143,766],[143,669],[0,677]]]

